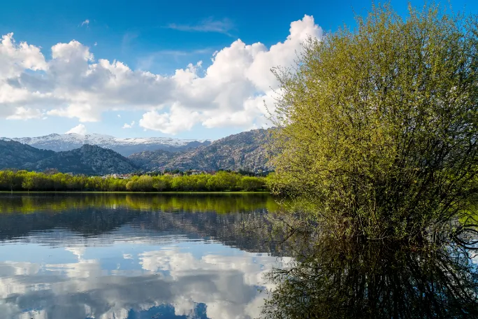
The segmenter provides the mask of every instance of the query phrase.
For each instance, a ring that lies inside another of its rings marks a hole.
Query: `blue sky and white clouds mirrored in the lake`
[[[276,257],[169,234],[66,230],[0,245],[1,318],[254,318]],[[269,287],[270,288],[270,287]]]

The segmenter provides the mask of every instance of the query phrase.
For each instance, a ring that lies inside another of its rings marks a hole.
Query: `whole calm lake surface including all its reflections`
[[[335,239],[282,210],[268,194],[0,194],[0,318],[478,318],[476,235]]]

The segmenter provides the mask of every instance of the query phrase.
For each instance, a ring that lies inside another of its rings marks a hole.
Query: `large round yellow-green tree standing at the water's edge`
[[[276,185],[340,234],[423,234],[463,211],[478,163],[476,21],[379,6],[355,31],[306,41],[295,71],[275,69]]]

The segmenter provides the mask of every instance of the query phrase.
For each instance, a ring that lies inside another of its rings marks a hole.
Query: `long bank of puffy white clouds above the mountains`
[[[17,44],[7,34],[0,43],[0,118],[50,115],[94,122],[105,111],[144,110],[138,125],[166,134],[194,125],[265,127],[264,104],[273,107],[278,87],[270,69],[293,65],[307,36],[321,38],[322,30],[305,15],[270,48],[238,39],[215,52],[207,68],[191,63],[162,76],[95,59],[78,41],[54,45],[47,60],[40,48]]]

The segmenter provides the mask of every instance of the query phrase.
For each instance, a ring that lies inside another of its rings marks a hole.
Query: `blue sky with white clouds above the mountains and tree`
[[[440,3],[440,1],[437,1]],[[410,1],[423,6],[424,1]],[[476,0],[442,1],[478,13]],[[407,1],[391,1],[400,15]],[[372,1],[5,1],[0,136],[219,139],[268,127],[300,43]]]

